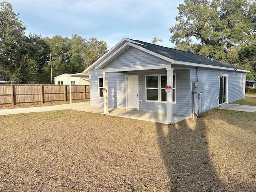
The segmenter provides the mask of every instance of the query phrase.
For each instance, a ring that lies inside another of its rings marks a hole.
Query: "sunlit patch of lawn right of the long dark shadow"
[[[209,151],[226,188],[256,191],[256,112],[213,109],[209,115]]]

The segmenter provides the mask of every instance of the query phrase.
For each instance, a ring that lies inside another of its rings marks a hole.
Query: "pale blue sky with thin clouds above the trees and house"
[[[104,40],[108,49],[123,38],[173,47],[169,28],[175,24],[184,0],[9,0],[15,13],[32,32]]]

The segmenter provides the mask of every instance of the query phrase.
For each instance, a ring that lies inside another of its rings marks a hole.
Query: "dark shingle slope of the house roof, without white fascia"
[[[132,40],[132,39],[130,39]],[[138,46],[141,46],[147,50],[150,50],[152,52],[155,52],[157,54],[160,54],[162,56],[165,56],[167,58],[173,59],[175,61],[182,61],[182,62],[189,62],[189,63],[195,63],[196,64],[203,64],[203,65],[210,65],[210,66],[217,66],[217,67],[226,67],[226,68],[233,68],[233,69],[241,69],[244,70],[243,68],[220,62],[218,60],[211,60],[211,58],[208,58],[206,56],[198,55],[198,54],[193,54],[185,51],[180,51],[168,47],[163,47],[151,43],[146,43],[143,41],[139,40],[133,40],[136,41],[140,44],[137,44]]]

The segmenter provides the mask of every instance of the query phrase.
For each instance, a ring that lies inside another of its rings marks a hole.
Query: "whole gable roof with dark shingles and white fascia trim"
[[[226,68],[229,70],[249,72],[248,70],[244,70],[243,68],[228,63],[220,62],[218,60],[211,59],[206,56],[184,52],[173,48],[159,46],[156,44],[150,44],[147,42],[142,42],[140,40],[132,40],[129,38],[122,39],[118,44],[116,44],[116,46],[110,49],[106,54],[104,54],[100,59],[94,62],[90,67],[84,70],[84,72],[89,72],[92,68],[101,69],[130,46],[139,48],[142,51],[153,54],[154,56],[162,58],[172,64],[181,64],[189,66],[203,65],[204,67],[210,68]]]

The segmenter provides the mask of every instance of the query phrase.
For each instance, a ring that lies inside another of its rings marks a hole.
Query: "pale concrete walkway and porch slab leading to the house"
[[[102,106],[91,106],[90,102],[79,102],[79,103],[44,106],[44,107],[2,109],[2,110],[0,110],[0,115],[56,111],[56,110],[66,110],[66,109],[103,114]],[[112,116],[125,117],[125,118],[138,119],[138,120],[166,124],[166,114],[162,114],[162,113],[153,113],[153,112],[138,111],[138,110],[132,110],[132,109],[125,110],[125,109],[117,109],[117,108],[108,108],[108,111],[109,111],[108,115],[112,115]],[[188,118],[188,117],[173,115],[172,123],[174,124],[174,123],[182,121],[186,118]]]

